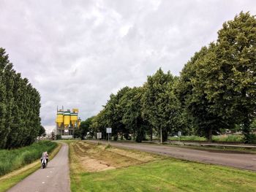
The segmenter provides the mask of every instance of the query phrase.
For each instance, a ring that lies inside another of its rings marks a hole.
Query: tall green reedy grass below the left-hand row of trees
[[[0,176],[30,164],[40,158],[43,151],[51,152],[56,146],[56,142],[42,141],[14,150],[0,150]]]

